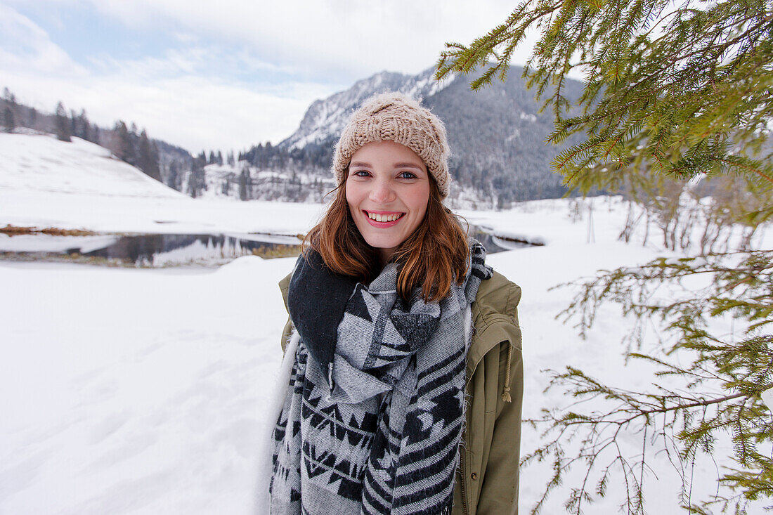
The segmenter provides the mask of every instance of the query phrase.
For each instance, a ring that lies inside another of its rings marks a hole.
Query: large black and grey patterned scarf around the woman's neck
[[[364,286],[300,257],[288,305],[300,341],[274,427],[271,513],[450,513],[464,423],[470,304],[490,278],[471,240],[462,285],[397,295],[396,264]],[[296,337],[298,337],[296,336]]]

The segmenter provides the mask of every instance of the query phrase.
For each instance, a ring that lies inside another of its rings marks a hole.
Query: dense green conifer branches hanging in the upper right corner
[[[472,89],[504,79],[534,29],[523,77],[556,116],[548,141],[587,135],[553,162],[567,180],[643,153],[656,172],[751,173],[773,185],[769,150],[755,159],[773,119],[771,2],[523,2],[469,46],[448,43],[436,77],[481,68]],[[564,96],[570,72],[585,77],[577,106]]]

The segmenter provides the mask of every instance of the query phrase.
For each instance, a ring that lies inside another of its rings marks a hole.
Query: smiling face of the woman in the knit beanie
[[[424,220],[429,198],[427,167],[410,148],[385,140],[352,155],[346,203],[359,234],[384,262]]]

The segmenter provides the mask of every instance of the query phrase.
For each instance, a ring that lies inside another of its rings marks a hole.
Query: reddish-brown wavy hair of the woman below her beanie
[[[366,243],[352,219],[346,202],[346,180],[334,191],[335,199],[325,216],[304,238],[303,254],[314,249],[335,273],[367,284],[381,272],[379,253]],[[432,176],[424,220],[397,247],[390,261],[400,265],[397,292],[404,300],[419,285],[424,301],[445,298],[452,283],[461,285],[465,279],[467,234],[455,214],[443,205]]]

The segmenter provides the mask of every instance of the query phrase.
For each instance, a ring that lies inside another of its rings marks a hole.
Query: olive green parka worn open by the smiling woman
[[[284,306],[290,275],[279,282]],[[482,281],[472,303],[467,421],[452,515],[517,515],[523,360],[516,308],[521,288],[503,275]],[[288,319],[281,345],[291,333]]]

